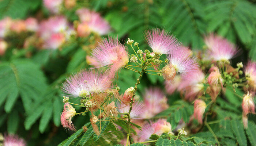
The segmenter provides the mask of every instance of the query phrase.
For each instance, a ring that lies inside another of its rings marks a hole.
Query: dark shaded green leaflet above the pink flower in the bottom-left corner
[[[7,131],[8,133],[15,134],[18,130],[19,125],[19,115],[18,111],[13,110],[11,114],[8,115],[8,121],[7,121]]]

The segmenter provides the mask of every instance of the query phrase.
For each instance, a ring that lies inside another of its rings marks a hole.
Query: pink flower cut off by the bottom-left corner
[[[26,146],[26,142],[17,135],[5,135],[4,146]]]

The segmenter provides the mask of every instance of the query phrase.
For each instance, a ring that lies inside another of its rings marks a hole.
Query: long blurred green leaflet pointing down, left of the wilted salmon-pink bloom
[[[47,106],[48,105],[48,106]],[[52,117],[52,111],[53,111],[53,107],[51,106],[51,104],[47,104],[45,107],[44,112],[42,113],[42,118],[40,119],[40,123],[39,123],[39,131],[41,133],[44,133],[45,128],[48,126],[50,119]]]

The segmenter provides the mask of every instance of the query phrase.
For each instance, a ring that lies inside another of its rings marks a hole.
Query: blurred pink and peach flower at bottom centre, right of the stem
[[[158,119],[157,122],[146,123],[142,127],[142,130],[139,132],[139,141],[144,142],[149,140],[150,135],[157,134],[162,135],[163,133],[173,134],[172,126],[166,119]]]

